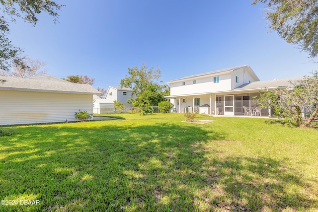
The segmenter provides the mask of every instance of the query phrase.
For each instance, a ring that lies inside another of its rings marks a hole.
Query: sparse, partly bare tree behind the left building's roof
[[[14,71],[0,71],[0,75],[20,78],[42,76],[47,73],[46,69],[41,70],[45,65],[46,63],[43,61],[24,57],[23,59],[17,59],[17,62],[13,63]]]

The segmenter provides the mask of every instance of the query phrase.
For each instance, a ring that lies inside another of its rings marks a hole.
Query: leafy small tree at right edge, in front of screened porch
[[[258,103],[298,127],[308,127],[318,119],[318,72],[290,83],[291,86],[284,89],[265,90]]]

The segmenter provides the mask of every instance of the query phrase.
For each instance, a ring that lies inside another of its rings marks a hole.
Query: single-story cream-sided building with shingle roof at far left
[[[0,79],[0,125],[77,121],[75,112],[92,113],[93,94],[99,94],[54,76]]]

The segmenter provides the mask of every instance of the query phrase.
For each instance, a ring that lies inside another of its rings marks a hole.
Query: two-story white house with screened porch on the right
[[[248,66],[211,71],[168,81],[170,99],[176,111],[210,115],[270,116],[271,111],[257,107],[253,97],[259,97],[264,88],[290,86],[290,80],[299,78],[259,81]]]

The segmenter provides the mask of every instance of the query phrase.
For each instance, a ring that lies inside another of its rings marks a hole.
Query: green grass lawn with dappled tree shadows
[[[0,200],[17,204],[0,211],[318,210],[317,129],[107,116],[121,120],[4,128]]]

